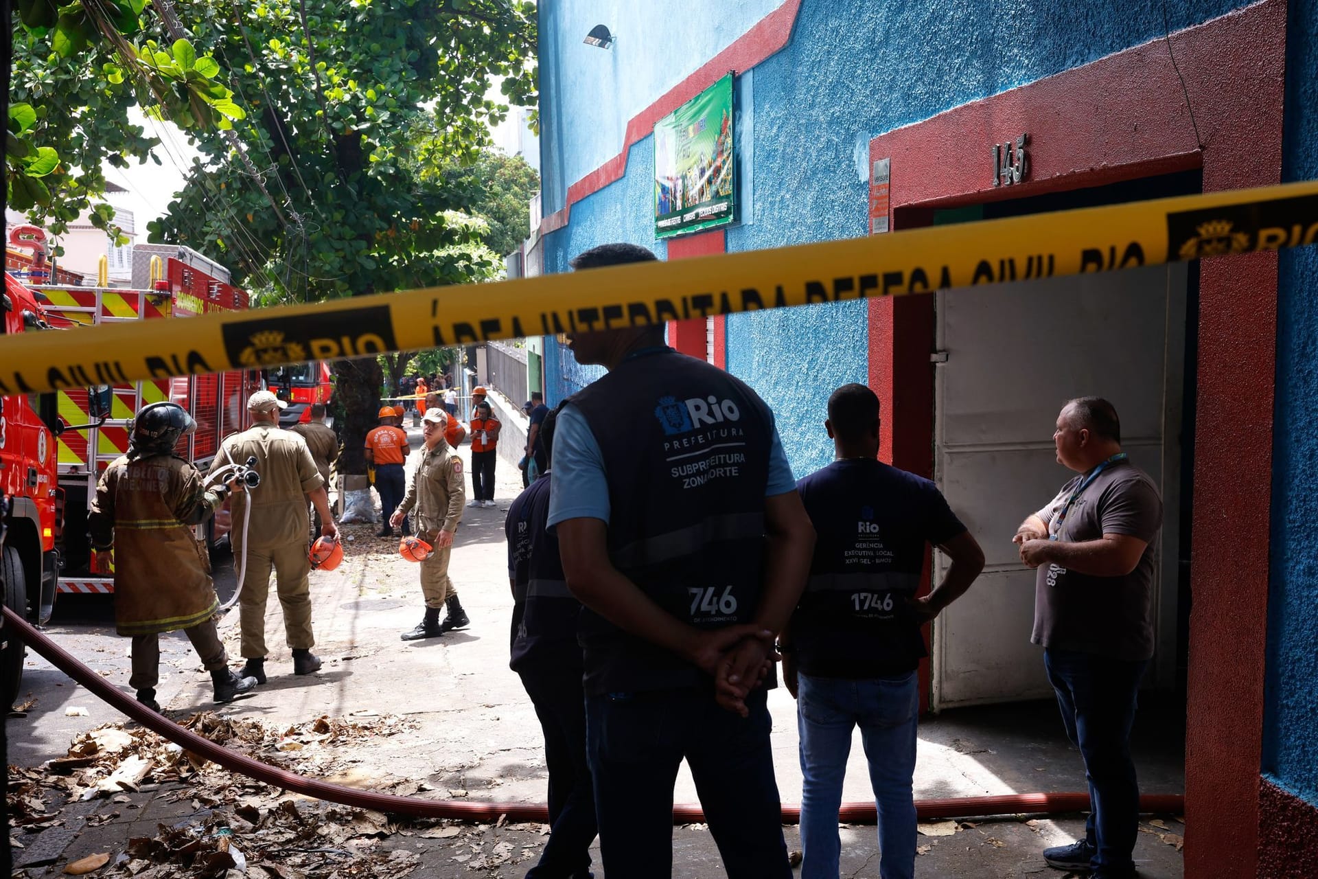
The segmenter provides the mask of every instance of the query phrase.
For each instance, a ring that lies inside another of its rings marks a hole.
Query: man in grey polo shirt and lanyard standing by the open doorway
[[[1140,789],[1131,725],[1153,656],[1153,565],[1162,498],[1122,451],[1116,409],[1099,397],[1068,402],[1053,432],[1057,463],[1074,476],[1012,540],[1037,569],[1035,631],[1066,737],[1085,758],[1085,838],[1044,849],[1060,870],[1132,879]]]

